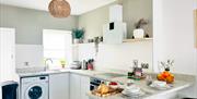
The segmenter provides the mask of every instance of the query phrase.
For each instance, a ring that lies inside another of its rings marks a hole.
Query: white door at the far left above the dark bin
[[[14,29],[0,28],[0,82],[16,79],[14,49]]]

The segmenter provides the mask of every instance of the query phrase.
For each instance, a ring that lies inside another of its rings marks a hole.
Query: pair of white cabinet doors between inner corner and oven
[[[70,74],[70,99],[89,99],[90,77]]]

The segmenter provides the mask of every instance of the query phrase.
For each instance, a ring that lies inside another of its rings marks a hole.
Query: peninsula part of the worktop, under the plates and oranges
[[[117,78],[117,79],[124,79],[124,78]],[[176,81],[173,84],[172,88],[165,89],[165,90],[151,88],[146,85],[144,81],[136,81],[135,85],[139,86],[141,88],[141,90],[144,91],[146,95],[142,97],[138,97],[138,98],[126,97],[126,96],[123,96],[121,94],[115,95],[112,97],[107,97],[107,98],[100,98],[97,96],[91,95],[90,92],[88,95],[89,95],[89,97],[91,97],[91,99],[163,99],[163,98],[161,98],[161,96],[162,97],[164,96],[164,99],[167,99],[165,97],[166,95],[171,95],[173,92],[177,92],[182,89],[190,87],[193,85],[193,83]],[[159,97],[159,98],[157,98],[157,97]]]

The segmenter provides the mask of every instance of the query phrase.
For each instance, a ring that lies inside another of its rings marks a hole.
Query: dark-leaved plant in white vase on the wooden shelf
[[[144,37],[144,30],[142,28],[143,25],[147,25],[148,21],[144,18],[140,18],[136,24],[136,29],[134,29],[134,37],[132,38],[143,38]]]

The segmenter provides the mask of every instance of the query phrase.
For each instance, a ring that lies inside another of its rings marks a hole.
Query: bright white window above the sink
[[[49,70],[62,69],[72,62],[72,36],[69,30],[43,30],[44,60]]]

